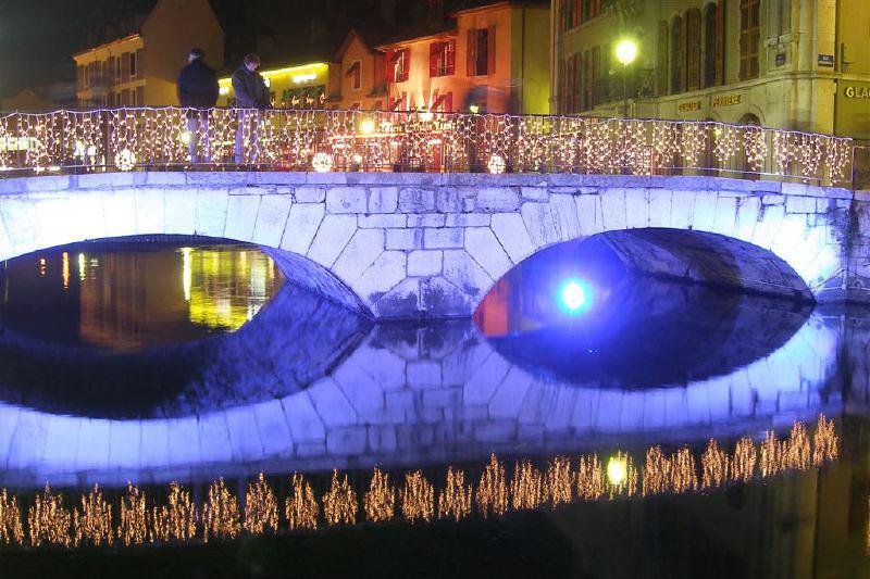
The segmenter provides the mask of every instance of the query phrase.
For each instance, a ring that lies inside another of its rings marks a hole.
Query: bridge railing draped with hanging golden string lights
[[[0,113],[0,175],[178,169],[721,175],[850,185],[848,138],[716,122],[123,108]]]

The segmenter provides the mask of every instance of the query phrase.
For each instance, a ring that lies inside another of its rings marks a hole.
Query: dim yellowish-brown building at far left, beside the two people
[[[191,48],[223,63],[223,32],[208,0],[157,0],[107,42],[73,55],[79,106],[178,104],[175,80]]]

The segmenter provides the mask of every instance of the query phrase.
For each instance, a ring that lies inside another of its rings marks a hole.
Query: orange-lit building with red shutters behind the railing
[[[504,1],[459,10],[409,30],[386,53],[393,111],[545,114],[549,110],[549,7]]]

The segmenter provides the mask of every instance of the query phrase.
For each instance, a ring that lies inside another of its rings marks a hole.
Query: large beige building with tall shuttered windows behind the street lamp
[[[870,138],[867,0],[552,0],[550,111]],[[613,55],[631,38],[637,59]],[[623,76],[624,75],[624,76]],[[624,85],[623,85],[624,81]]]

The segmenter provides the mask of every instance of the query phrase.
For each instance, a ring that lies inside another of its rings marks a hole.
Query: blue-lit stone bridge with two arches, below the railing
[[[867,302],[867,199],[698,176],[40,176],[0,180],[0,260],[89,239],[210,236],[256,243],[289,279],[375,318],[452,317],[471,315],[495,281],[539,250],[623,231],[613,247],[634,268],[709,281],[710,264],[697,260],[716,254],[730,269],[713,281]],[[662,229],[632,235],[649,228]],[[686,248],[687,236],[669,241],[669,230],[707,235]]]

